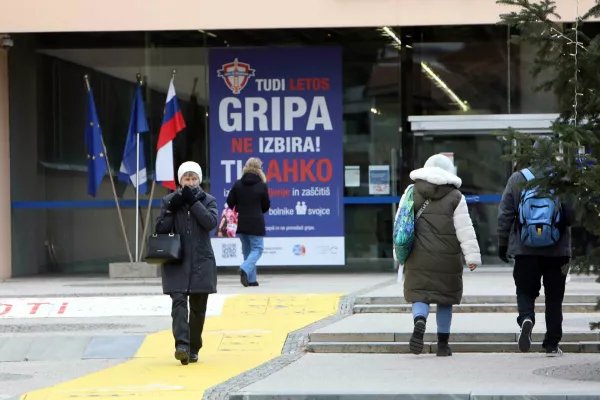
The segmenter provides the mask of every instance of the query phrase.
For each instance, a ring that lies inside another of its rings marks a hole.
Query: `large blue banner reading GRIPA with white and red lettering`
[[[213,49],[209,54],[210,188],[220,207],[250,157],[271,210],[260,265],[344,264],[341,48]],[[241,244],[215,238],[219,266]]]

